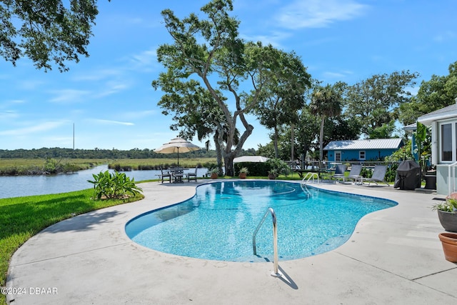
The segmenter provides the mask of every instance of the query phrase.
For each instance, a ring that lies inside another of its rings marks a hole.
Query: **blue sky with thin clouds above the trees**
[[[208,1],[99,0],[89,58],[45,73],[29,59],[0,61],[0,149],[156,149],[177,135],[161,114],[151,81],[171,43],[161,11],[183,18]],[[234,0],[243,39],[295,51],[314,79],[355,84],[373,74],[409,70],[447,75],[457,60],[455,0]],[[251,118],[243,148],[268,143]],[[240,124],[241,126],[241,124]],[[193,142],[203,146],[196,138]]]

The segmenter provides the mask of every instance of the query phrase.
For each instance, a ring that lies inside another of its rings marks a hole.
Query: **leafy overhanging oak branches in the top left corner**
[[[99,13],[96,0],[0,1],[0,56],[16,65],[28,57],[38,69],[54,61],[67,71],[66,61],[89,56],[86,47]],[[67,6],[67,7],[66,7]]]

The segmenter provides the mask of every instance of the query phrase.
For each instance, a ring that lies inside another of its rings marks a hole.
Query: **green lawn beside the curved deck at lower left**
[[[93,189],[69,193],[0,199],[0,286],[6,284],[9,260],[31,236],[72,216],[124,204],[123,200],[94,201]],[[139,194],[129,202],[143,199]],[[0,304],[6,297],[0,294]]]

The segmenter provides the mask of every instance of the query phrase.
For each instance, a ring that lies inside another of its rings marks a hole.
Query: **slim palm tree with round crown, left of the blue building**
[[[311,95],[309,104],[311,114],[321,116],[321,131],[319,133],[319,160],[323,159],[323,124],[325,119],[341,114],[341,95],[331,85],[319,87]]]

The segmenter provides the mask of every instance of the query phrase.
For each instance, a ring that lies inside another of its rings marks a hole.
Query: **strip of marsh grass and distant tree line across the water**
[[[255,154],[251,149],[243,154]],[[70,173],[108,164],[116,171],[160,169],[177,166],[177,154],[157,154],[149,149],[0,149],[0,176]],[[216,166],[214,151],[191,151],[180,154],[180,166]]]

